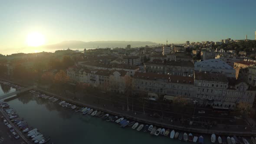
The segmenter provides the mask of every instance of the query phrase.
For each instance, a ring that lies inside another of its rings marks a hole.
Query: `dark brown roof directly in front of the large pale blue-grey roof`
[[[217,73],[195,72],[195,79],[217,81],[217,82],[228,82],[226,75],[217,74]]]

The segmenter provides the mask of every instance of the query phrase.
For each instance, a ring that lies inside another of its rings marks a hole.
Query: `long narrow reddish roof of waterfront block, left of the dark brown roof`
[[[194,79],[187,76],[179,76],[179,75],[164,75],[164,74],[156,74],[151,72],[135,72],[133,76],[134,79],[146,79],[146,80],[161,80],[172,83],[186,83],[186,84],[194,84]]]

